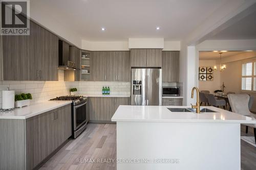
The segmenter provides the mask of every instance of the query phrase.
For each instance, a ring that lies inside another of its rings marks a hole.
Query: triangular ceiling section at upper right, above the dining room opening
[[[256,11],[210,38],[211,40],[256,39]]]

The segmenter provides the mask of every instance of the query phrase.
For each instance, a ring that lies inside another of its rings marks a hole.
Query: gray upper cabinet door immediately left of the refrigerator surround
[[[117,52],[118,59],[118,76],[119,82],[130,82],[131,81],[131,57],[130,52]]]

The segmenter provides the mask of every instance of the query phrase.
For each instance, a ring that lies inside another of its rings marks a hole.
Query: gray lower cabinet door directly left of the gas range
[[[71,105],[54,110],[55,149],[72,135]]]

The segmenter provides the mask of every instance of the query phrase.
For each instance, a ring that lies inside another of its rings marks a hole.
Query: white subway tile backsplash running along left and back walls
[[[130,95],[130,82],[64,82],[64,72],[59,70],[59,81],[0,81],[0,108],[2,108],[2,90],[15,90],[15,94],[31,93],[32,103],[69,95],[70,88],[77,88],[80,94],[102,94],[102,87],[109,86],[110,93]]]

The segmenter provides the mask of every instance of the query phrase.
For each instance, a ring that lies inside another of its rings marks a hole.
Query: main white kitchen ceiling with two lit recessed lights
[[[226,0],[33,0],[30,11],[89,41],[181,40]],[[159,26],[160,30],[156,30]],[[100,29],[104,27],[105,31]]]

